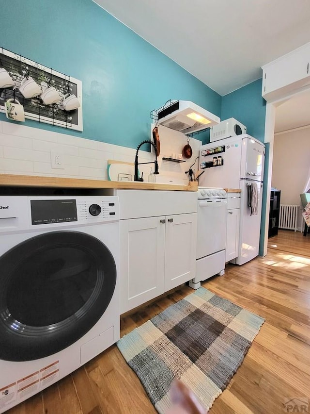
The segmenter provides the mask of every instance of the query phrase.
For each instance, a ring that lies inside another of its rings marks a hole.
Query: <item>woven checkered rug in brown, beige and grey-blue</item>
[[[199,288],[125,335],[117,346],[159,413],[171,382],[184,382],[209,410],[242,363],[263,318]]]

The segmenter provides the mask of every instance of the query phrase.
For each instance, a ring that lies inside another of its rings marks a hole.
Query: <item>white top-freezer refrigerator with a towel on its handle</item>
[[[261,231],[263,168],[265,146],[248,134],[214,141],[200,148],[200,168],[205,168],[199,186],[241,189],[240,236],[238,257],[233,260],[243,265],[258,255]],[[254,194],[254,214],[249,204],[251,190]],[[256,211],[257,210],[257,214]]]

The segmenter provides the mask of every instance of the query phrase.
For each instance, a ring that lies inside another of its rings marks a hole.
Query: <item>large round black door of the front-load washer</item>
[[[0,359],[30,361],[76,342],[116,284],[109,249],[81,232],[49,232],[0,257]]]

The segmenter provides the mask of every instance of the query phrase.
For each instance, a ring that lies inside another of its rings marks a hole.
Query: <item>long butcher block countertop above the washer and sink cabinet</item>
[[[0,186],[55,187],[55,188],[122,188],[135,190],[197,191],[198,183],[190,185],[159,182],[83,180],[79,178],[42,177],[34,175],[0,174]]]

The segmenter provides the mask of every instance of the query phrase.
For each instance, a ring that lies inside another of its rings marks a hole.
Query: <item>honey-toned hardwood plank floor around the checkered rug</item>
[[[280,231],[268,254],[203,286],[265,318],[228,388],[210,414],[284,413],[285,398],[310,403],[310,235]],[[122,335],[192,292],[183,286],[122,318]],[[293,412],[293,411],[292,411]],[[298,412],[296,407],[295,411]],[[299,411],[302,412],[302,411]],[[303,411],[304,413],[310,412]],[[156,413],[116,346],[9,414]]]

